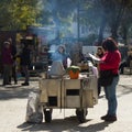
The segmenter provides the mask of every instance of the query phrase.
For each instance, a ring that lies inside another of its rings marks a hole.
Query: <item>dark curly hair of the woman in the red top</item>
[[[118,44],[112,37],[108,37],[102,42],[105,51],[114,52],[118,50]]]

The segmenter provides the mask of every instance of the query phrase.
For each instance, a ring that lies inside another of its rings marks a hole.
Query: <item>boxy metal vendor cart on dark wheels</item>
[[[84,74],[78,79],[42,78],[40,80],[40,103],[45,122],[52,121],[53,109],[76,109],[79,122],[85,122],[88,108],[98,103],[97,77]]]

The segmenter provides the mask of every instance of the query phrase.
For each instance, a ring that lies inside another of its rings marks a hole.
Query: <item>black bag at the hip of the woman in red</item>
[[[100,76],[99,76],[99,85],[107,87],[112,84],[113,80],[113,74],[112,70],[100,70]]]

